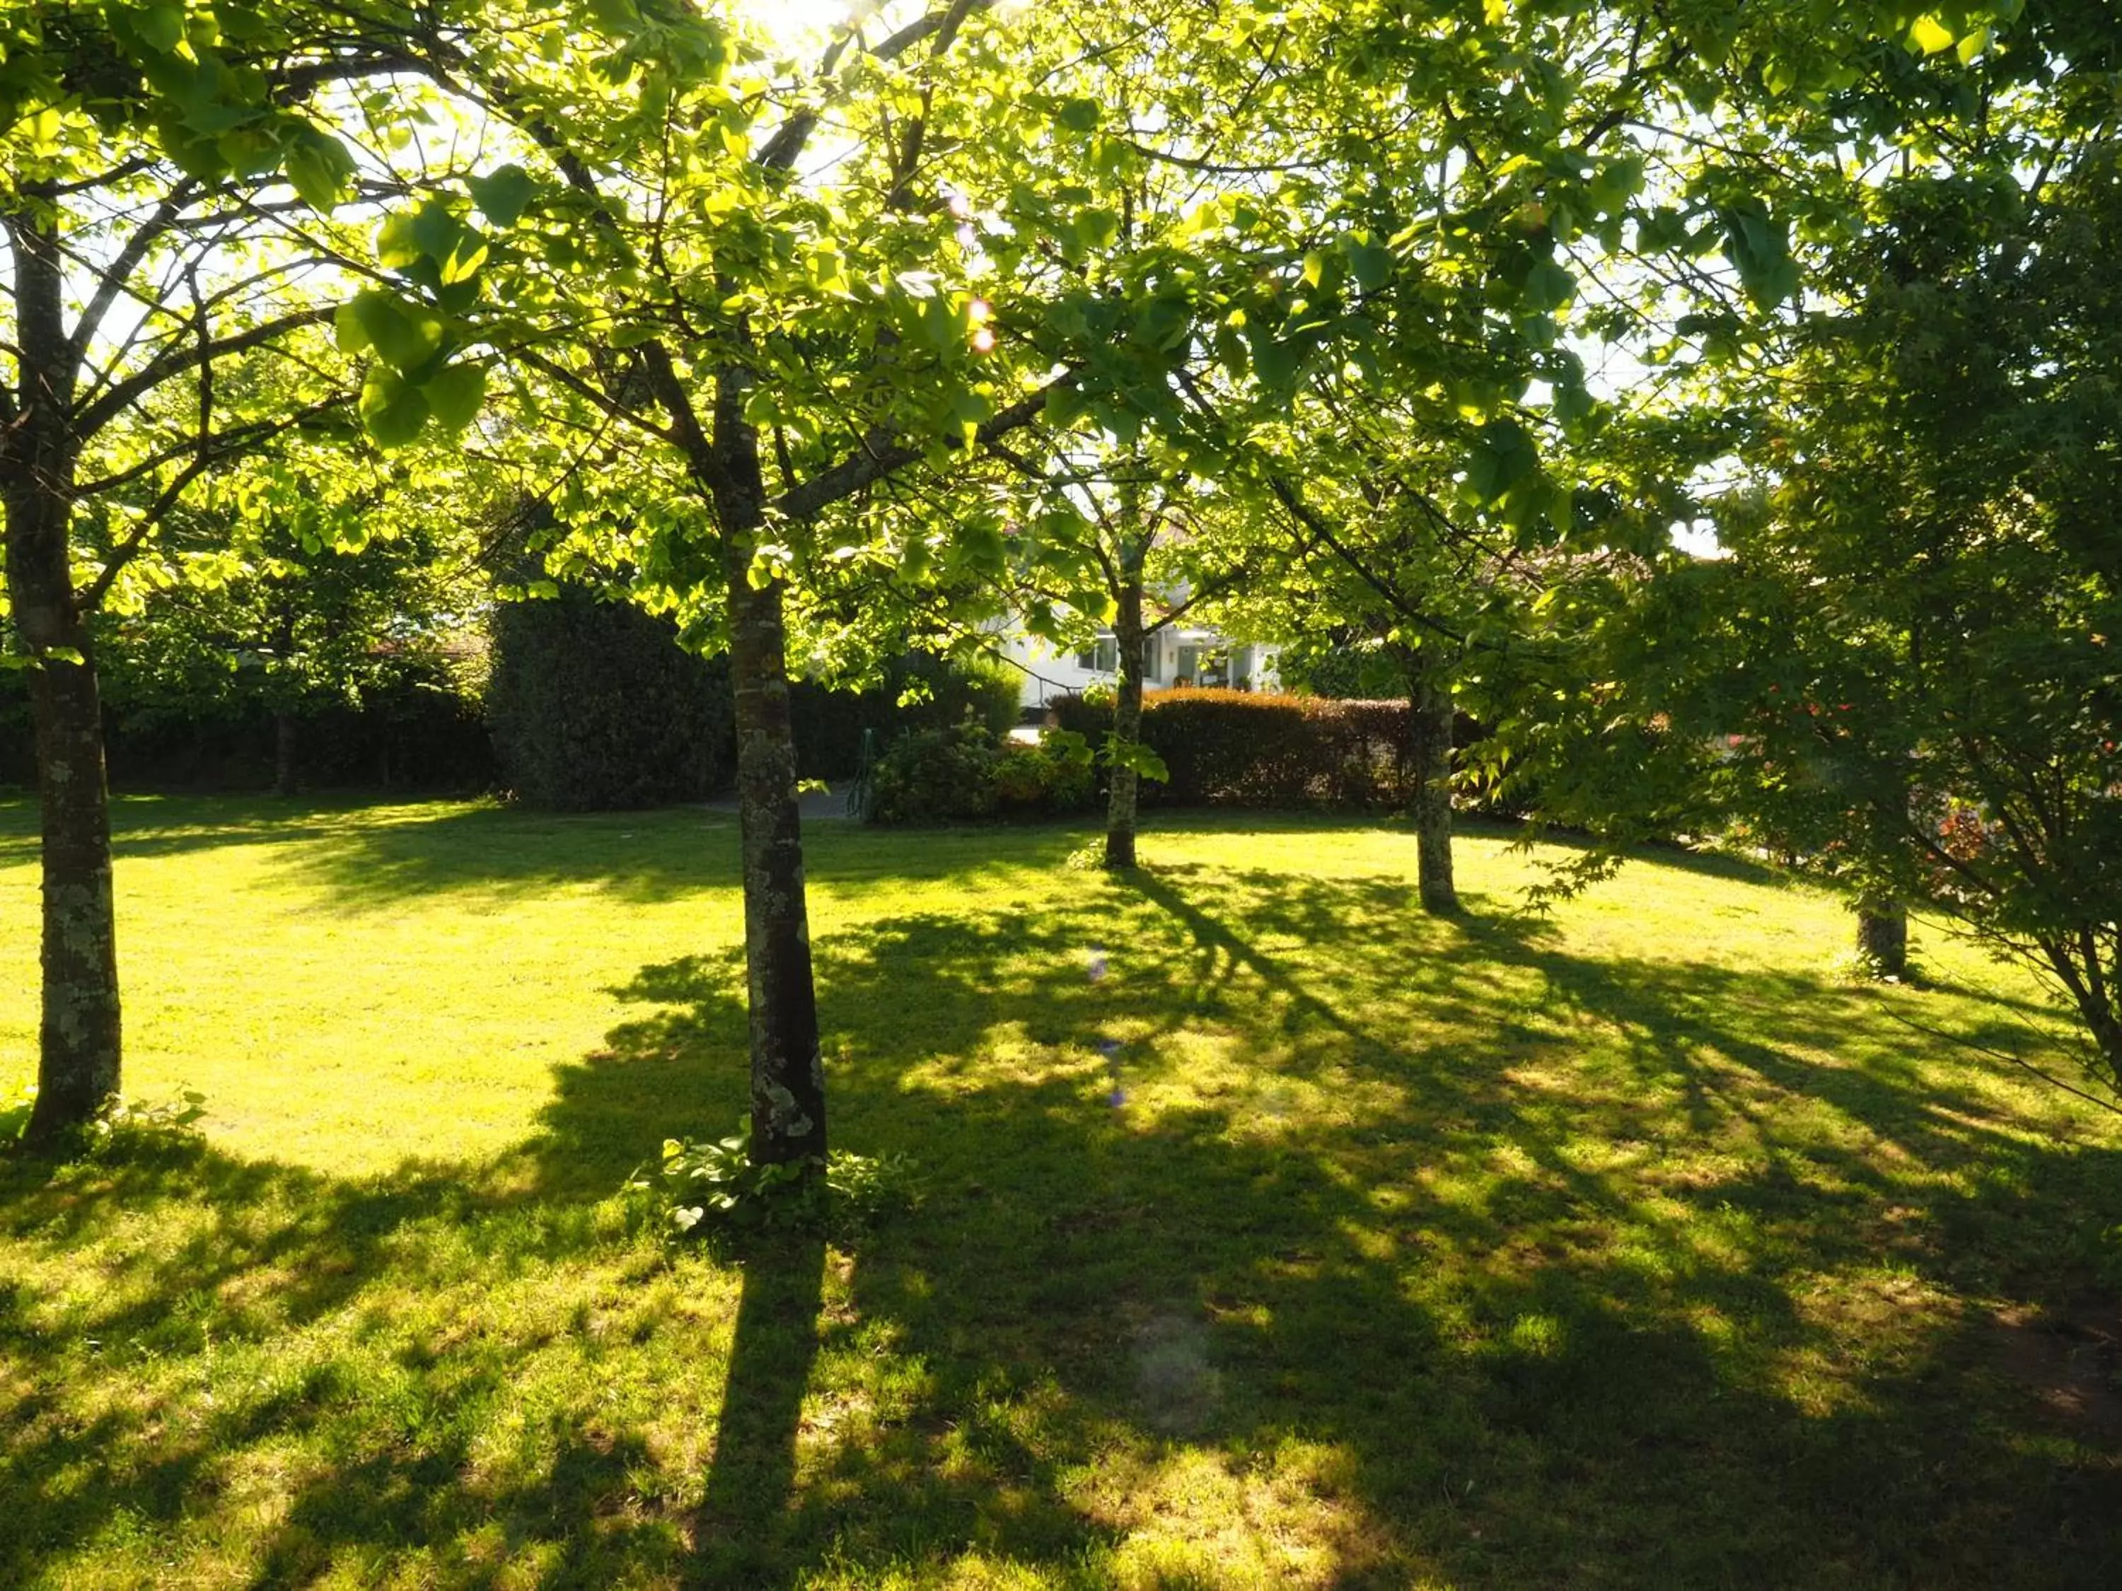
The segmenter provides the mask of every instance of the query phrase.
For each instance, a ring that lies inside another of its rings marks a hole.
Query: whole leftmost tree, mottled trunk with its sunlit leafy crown
[[[359,21],[325,6],[0,13],[0,503],[45,870],[34,1139],[121,1076],[91,622],[199,477],[344,397],[329,375],[216,375],[331,316],[329,255],[291,229],[354,176],[318,95],[376,68]]]

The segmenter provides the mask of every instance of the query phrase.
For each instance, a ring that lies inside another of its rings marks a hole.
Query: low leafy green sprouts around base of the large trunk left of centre
[[[817,1160],[753,1165],[751,1118],[711,1143],[664,1139],[662,1162],[637,1171],[626,1188],[656,1205],[671,1237],[707,1237],[772,1226],[847,1230],[921,1203],[915,1165],[904,1154],[866,1156],[834,1150]]]

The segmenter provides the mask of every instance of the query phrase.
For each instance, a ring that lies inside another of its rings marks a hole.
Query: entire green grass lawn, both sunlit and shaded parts
[[[1937,931],[1863,989],[1736,866],[1536,921],[1477,834],[1432,923],[1394,829],[819,825],[834,1135],[929,1194],[736,1264],[615,1196],[743,1109],[732,819],[119,825],[127,1092],[210,1116],[0,1162],[4,1587],[2122,1585],[2122,1133],[1908,1027],[2060,1063]]]

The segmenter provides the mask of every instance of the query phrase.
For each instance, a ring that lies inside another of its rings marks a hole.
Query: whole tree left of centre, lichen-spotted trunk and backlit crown
[[[895,473],[1033,422],[1050,384],[1014,363],[982,373],[970,250],[929,170],[946,62],[985,8],[961,0],[879,38],[853,23],[811,70],[677,4],[463,6],[405,38],[407,64],[507,127],[520,159],[460,172],[454,195],[386,223],[393,312],[507,348],[518,424],[613,437],[605,467],[624,456],[630,475],[554,492],[571,539],[556,556],[596,554],[624,524],[649,598],[730,653],[764,1162],[825,1152],[789,541]],[[830,178],[804,178],[815,146]],[[492,293],[452,295],[452,261],[473,252]],[[420,422],[418,403],[373,405],[384,439]]]

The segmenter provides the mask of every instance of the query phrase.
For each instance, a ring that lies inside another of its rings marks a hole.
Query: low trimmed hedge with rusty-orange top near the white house
[[[1112,706],[1061,696],[1055,721],[1103,745]],[[1142,738],[1169,781],[1142,781],[1150,806],[1401,806],[1407,702],[1341,702],[1224,689],[1142,698]]]

